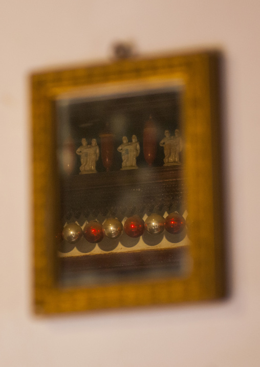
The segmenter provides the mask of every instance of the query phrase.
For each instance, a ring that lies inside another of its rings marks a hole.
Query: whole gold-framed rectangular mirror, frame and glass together
[[[203,52],[32,75],[36,313],[225,295],[219,70]]]

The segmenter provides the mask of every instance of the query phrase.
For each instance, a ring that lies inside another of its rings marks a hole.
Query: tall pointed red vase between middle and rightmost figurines
[[[149,118],[143,129],[143,153],[144,159],[149,166],[152,166],[157,152],[157,128],[153,119]]]

